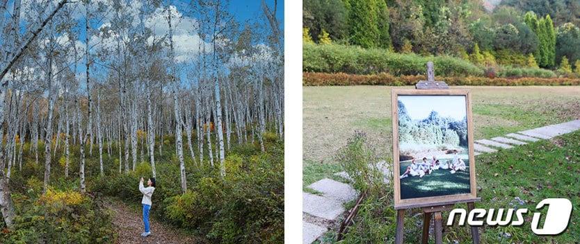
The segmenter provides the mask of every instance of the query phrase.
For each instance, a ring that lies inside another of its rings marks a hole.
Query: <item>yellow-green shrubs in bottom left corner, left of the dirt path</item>
[[[40,183],[29,182],[35,188]],[[117,238],[111,214],[90,195],[49,189],[45,195],[13,196],[15,227],[0,233],[2,243],[114,243]]]

